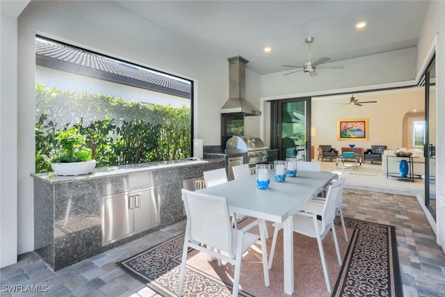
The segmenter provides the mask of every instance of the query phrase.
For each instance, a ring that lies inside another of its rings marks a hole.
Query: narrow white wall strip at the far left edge
[[[17,262],[17,15],[0,3],[0,267]]]

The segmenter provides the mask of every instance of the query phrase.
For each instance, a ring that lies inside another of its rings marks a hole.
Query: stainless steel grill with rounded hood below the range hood
[[[226,153],[239,154],[247,152],[250,165],[267,161],[267,147],[261,138],[251,136],[232,136],[227,140]]]

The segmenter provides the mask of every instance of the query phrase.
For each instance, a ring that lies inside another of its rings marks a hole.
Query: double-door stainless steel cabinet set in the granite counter
[[[161,223],[159,187],[102,197],[102,246]]]

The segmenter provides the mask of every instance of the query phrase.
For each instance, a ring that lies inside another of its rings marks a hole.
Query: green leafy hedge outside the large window
[[[188,106],[142,104],[35,85],[35,171],[51,171],[58,130],[86,136],[97,167],[184,159],[191,154]]]

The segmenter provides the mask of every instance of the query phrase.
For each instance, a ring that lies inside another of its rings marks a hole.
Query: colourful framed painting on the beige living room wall
[[[343,119],[337,123],[337,139],[339,141],[368,141],[369,119]]]

